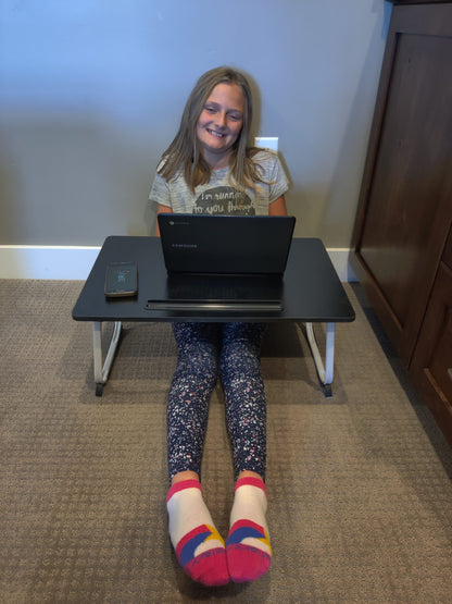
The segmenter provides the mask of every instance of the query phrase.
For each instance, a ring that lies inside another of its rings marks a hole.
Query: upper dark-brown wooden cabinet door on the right
[[[406,365],[452,221],[445,17],[452,3],[393,9],[353,236],[357,274]]]

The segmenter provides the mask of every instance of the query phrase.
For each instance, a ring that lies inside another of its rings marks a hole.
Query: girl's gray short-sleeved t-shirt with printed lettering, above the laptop
[[[253,160],[262,167],[265,183],[256,183],[255,189],[247,187],[244,195],[231,185],[229,168],[225,168],[213,171],[210,182],[199,185],[194,194],[183,172],[171,182],[155,174],[149,199],[175,213],[268,215],[269,204],[289,188],[287,176],[274,151],[259,151]]]

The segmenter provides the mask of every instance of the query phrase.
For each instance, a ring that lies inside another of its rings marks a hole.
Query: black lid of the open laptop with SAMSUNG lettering
[[[158,215],[170,273],[282,274],[294,217]]]

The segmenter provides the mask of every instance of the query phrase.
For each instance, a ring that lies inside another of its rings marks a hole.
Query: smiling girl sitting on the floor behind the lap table
[[[158,167],[150,194],[158,213],[287,214],[288,183],[277,155],[247,147],[251,118],[251,89],[240,72],[218,67],[200,77]],[[253,581],[266,572],[272,556],[260,363],[264,325],[174,323],[173,331],[178,359],[167,403],[171,541],[196,581]],[[236,477],[226,543],[200,483],[209,402],[218,374]]]

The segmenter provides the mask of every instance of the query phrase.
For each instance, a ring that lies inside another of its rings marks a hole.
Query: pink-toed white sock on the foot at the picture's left
[[[184,480],[173,484],[166,507],[171,542],[187,575],[204,585],[228,583],[225,543],[202,498],[200,482]]]

